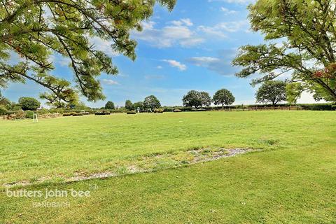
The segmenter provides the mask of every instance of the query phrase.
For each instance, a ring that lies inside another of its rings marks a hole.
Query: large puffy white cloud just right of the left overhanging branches
[[[190,29],[193,26],[190,19],[174,20],[168,23],[169,25],[158,29],[155,28],[155,22],[143,22],[142,31],[133,31],[132,36],[158,48],[170,48],[173,45],[191,47],[204,41]]]

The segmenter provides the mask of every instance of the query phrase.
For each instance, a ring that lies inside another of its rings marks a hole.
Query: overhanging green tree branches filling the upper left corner
[[[69,59],[76,88],[89,101],[104,99],[98,77],[117,74],[111,57],[94,45],[111,43],[114,52],[136,58],[136,41],[130,31],[141,31],[141,22],[153,14],[155,2],[174,8],[176,0],[22,0],[3,1],[0,7],[0,87],[32,80],[65,102],[71,88],[63,87],[52,57]],[[9,62],[10,53],[20,56]],[[48,94],[48,100],[59,100]],[[70,97],[72,98],[72,97]],[[51,102],[52,104],[53,102]]]

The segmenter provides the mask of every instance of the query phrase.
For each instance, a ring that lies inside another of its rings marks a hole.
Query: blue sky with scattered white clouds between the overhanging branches
[[[262,36],[249,29],[246,6],[249,0],[178,0],[172,12],[155,7],[151,20],[144,22],[144,30],[132,32],[138,41],[135,62],[118,55],[110,43],[94,39],[99,50],[104,50],[118,66],[118,76],[100,77],[105,101],[85,102],[101,107],[111,100],[123,106],[126,99],[132,102],[154,94],[162,105],[182,104],[189,90],[204,90],[211,95],[227,88],[236,97],[235,104],[254,104],[255,88],[250,79],[234,76],[238,68],[230,65],[241,45],[262,43]],[[72,80],[68,60],[55,55],[52,59],[59,76]],[[22,96],[38,97],[43,88],[35,83],[10,84],[3,95],[13,101]],[[304,94],[299,102],[312,102]]]

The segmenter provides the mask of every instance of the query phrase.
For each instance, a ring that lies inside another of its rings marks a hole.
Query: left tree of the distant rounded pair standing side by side
[[[198,92],[196,90],[190,90],[182,99],[184,106],[210,106],[211,97],[207,92]]]

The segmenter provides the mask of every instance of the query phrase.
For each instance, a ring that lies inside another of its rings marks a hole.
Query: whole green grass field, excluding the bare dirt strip
[[[1,120],[0,223],[335,223],[335,118],[334,111],[251,111],[68,117],[38,124]],[[144,156],[216,147],[262,151],[62,183]],[[91,195],[6,196],[4,183],[43,177],[50,179],[25,189],[89,189]],[[43,201],[70,206],[33,206]]]

